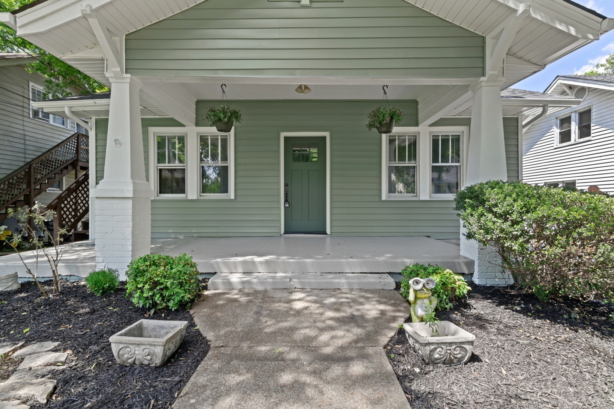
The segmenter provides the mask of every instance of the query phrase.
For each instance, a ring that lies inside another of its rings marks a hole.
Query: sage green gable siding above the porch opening
[[[484,75],[484,37],[403,0],[206,0],[125,45],[141,75]]]

